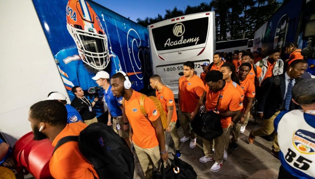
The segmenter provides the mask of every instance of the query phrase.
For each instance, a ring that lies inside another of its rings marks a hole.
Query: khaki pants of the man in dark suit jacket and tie
[[[264,119],[262,122],[262,126],[260,129],[252,131],[253,136],[268,136],[270,135],[274,130],[273,126],[273,121],[274,119],[278,116],[280,111],[277,111],[272,115],[271,118],[269,119]],[[280,150],[279,145],[278,145],[278,134],[275,133],[273,136],[273,145],[272,145],[272,150],[278,152]]]

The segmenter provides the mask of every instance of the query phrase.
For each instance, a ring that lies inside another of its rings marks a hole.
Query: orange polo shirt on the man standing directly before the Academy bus
[[[178,89],[180,91],[180,110],[192,113],[196,108],[199,97],[204,92],[202,80],[197,75],[192,76],[189,80],[182,76],[179,78]]]

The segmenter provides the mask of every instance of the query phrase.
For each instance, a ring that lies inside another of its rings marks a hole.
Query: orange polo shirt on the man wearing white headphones
[[[144,108],[146,109],[149,120],[141,113],[140,110],[141,93],[133,90],[131,98],[124,100],[125,113],[129,120],[130,126],[134,132],[132,141],[142,148],[153,148],[158,146],[155,128],[151,122],[160,117],[152,99],[146,97],[144,100]]]

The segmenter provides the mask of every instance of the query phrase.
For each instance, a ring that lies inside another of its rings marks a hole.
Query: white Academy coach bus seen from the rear
[[[201,65],[211,63],[215,52],[215,12],[183,15],[148,26],[153,74],[178,97],[183,63],[193,61],[200,76]]]

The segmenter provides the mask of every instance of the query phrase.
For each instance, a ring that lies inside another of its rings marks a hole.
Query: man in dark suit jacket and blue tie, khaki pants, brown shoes
[[[261,118],[264,118],[260,129],[250,131],[248,142],[253,144],[255,136],[267,136],[274,131],[273,121],[281,111],[289,111],[296,109],[292,101],[291,89],[294,84],[299,83],[303,79],[311,78],[309,73],[305,73],[308,65],[304,60],[293,61],[288,70],[279,75],[280,84],[274,83],[274,78],[266,78],[265,89],[261,90],[261,98],[265,103],[259,103],[257,111]],[[278,157],[279,146],[277,136],[275,135],[272,146],[272,154]]]

